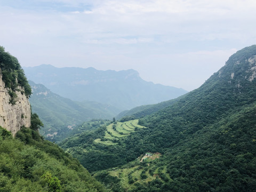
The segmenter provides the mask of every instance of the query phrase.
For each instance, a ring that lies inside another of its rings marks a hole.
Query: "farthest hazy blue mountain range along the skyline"
[[[114,71],[51,65],[25,67],[28,79],[75,101],[96,101],[122,110],[170,100],[187,93],[183,89],[146,82],[133,69]]]

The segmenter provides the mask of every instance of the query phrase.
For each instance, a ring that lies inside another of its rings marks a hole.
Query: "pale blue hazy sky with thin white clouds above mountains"
[[[255,0],[1,0],[0,45],[21,66],[135,69],[196,89],[256,43]]]

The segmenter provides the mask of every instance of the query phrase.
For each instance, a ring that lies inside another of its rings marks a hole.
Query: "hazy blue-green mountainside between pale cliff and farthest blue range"
[[[95,101],[72,101],[53,93],[42,84],[29,81],[33,94],[29,102],[33,113],[38,114],[44,123],[41,134],[51,137],[52,134],[68,131],[75,125],[91,119],[111,119],[118,112],[113,106]]]

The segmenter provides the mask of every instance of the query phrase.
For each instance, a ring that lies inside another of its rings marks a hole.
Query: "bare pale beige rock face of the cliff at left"
[[[21,87],[19,87],[20,90]],[[14,135],[20,130],[21,126],[30,126],[30,103],[25,94],[21,91],[15,92],[18,96],[15,105],[9,103],[10,95],[5,87],[5,83],[0,75],[0,126],[11,131]]]

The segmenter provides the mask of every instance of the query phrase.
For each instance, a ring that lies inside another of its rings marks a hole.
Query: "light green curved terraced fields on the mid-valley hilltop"
[[[95,139],[95,143],[101,143],[104,145],[115,145],[115,141],[119,138],[126,137],[136,129],[146,128],[145,126],[138,125],[139,120],[131,120],[127,122],[114,122],[107,126],[105,131],[104,140]]]

